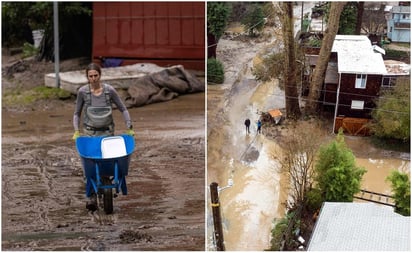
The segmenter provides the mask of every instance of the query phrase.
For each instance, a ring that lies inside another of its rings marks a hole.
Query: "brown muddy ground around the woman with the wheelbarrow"
[[[13,79],[3,76],[3,94],[14,85],[31,88],[53,66],[31,64]],[[197,93],[129,109],[136,146],[128,195],[114,199],[111,215],[85,208],[71,139],[74,98],[3,106],[2,250],[204,250],[204,99]],[[122,117],[114,114],[116,133],[122,133]]]

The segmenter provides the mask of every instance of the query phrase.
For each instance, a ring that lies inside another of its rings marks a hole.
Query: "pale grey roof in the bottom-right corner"
[[[308,251],[410,251],[410,217],[375,203],[325,202]]]

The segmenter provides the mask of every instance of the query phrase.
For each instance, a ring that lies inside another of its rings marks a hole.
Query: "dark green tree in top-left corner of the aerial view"
[[[217,40],[222,37],[231,13],[230,5],[226,2],[207,3],[207,30]]]

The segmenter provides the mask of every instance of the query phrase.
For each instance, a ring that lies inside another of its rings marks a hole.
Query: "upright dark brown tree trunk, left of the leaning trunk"
[[[295,56],[295,38],[293,36],[293,6],[292,2],[282,3],[283,15],[282,33],[283,43],[285,45],[285,100],[286,100],[286,117],[297,119],[301,116],[299,107],[299,95],[296,83],[296,56]]]

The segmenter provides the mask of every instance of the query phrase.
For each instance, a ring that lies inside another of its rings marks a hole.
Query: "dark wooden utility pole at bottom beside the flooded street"
[[[212,213],[213,213],[213,225],[214,225],[214,236],[216,239],[216,250],[225,251],[225,245],[223,244],[223,229],[222,229],[222,219],[220,217],[220,203],[219,203],[219,192],[218,184],[213,182],[210,184],[210,195],[212,199]]]

